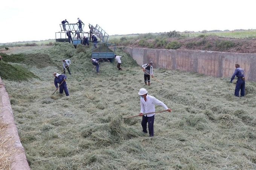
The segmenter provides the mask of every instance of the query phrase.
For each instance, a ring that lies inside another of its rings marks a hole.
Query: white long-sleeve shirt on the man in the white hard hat
[[[155,112],[155,104],[163,106],[166,110],[168,107],[154,96],[147,95],[147,101],[144,98],[140,98],[140,113]],[[148,117],[154,116],[155,113],[147,114]]]

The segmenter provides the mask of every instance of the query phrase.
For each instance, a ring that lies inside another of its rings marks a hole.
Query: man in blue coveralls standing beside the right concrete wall
[[[239,96],[239,91],[241,90],[241,97],[245,95],[245,78],[244,78],[244,69],[240,68],[240,64],[235,64],[235,72],[233,73],[229,83],[232,83],[235,76],[237,77],[236,87],[235,87],[235,96]]]

